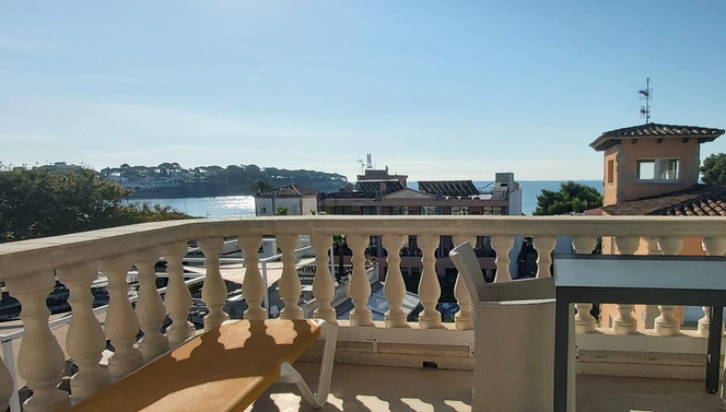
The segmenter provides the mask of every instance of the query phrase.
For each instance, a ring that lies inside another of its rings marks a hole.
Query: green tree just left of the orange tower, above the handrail
[[[587,209],[602,205],[602,195],[594,188],[566,181],[560,185],[559,191],[542,190],[537,197],[537,209],[535,215],[553,215],[581,213]]]

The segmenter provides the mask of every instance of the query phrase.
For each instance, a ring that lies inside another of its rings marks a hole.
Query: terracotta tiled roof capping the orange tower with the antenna
[[[606,131],[590,143],[596,151],[619,144],[622,139],[698,139],[699,143],[712,142],[724,134],[724,129],[700,126],[646,123]]]

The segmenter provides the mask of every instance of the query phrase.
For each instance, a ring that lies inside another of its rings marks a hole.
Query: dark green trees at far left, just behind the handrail
[[[124,204],[129,193],[95,172],[0,172],[0,242],[188,217],[171,208]]]

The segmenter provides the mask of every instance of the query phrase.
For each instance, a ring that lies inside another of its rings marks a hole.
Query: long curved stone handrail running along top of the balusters
[[[202,237],[298,234],[526,235],[719,237],[723,216],[273,216],[142,223],[0,244],[3,274],[22,275],[119,254],[157,247],[160,242]],[[8,270],[12,268],[12,271]]]

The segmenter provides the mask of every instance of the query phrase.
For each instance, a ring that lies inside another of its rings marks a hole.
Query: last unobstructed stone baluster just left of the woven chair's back
[[[419,296],[423,311],[419,315],[421,329],[441,328],[441,313],[436,310],[441,297],[441,285],[436,275],[436,249],[438,248],[437,235],[420,235],[418,237],[421,247],[421,281],[419,281]]]

